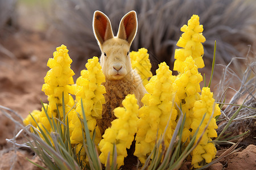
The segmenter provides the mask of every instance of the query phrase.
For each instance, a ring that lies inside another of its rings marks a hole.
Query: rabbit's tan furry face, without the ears
[[[129,43],[117,37],[104,42],[100,62],[106,79],[119,80],[130,73],[129,50]]]

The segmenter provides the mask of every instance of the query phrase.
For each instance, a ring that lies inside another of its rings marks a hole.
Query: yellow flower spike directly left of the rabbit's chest
[[[106,93],[105,87],[101,83],[105,82],[105,75],[102,73],[100,63],[97,57],[88,59],[85,67],[87,70],[81,71],[81,76],[76,81],[74,91],[76,95],[76,109],[69,113],[69,131],[71,134],[71,144],[77,145],[77,151],[80,151],[84,142],[82,131],[84,131],[80,118],[82,116],[82,107],[84,108],[85,117],[90,131],[90,137],[93,137],[93,131],[96,130],[94,142],[96,145],[101,140],[101,133],[96,126],[96,119],[102,118],[102,104],[105,104],[103,94]],[[85,134],[85,132],[84,132]],[[78,154],[79,152],[77,152]],[[80,153],[80,159],[85,160],[85,151]]]

